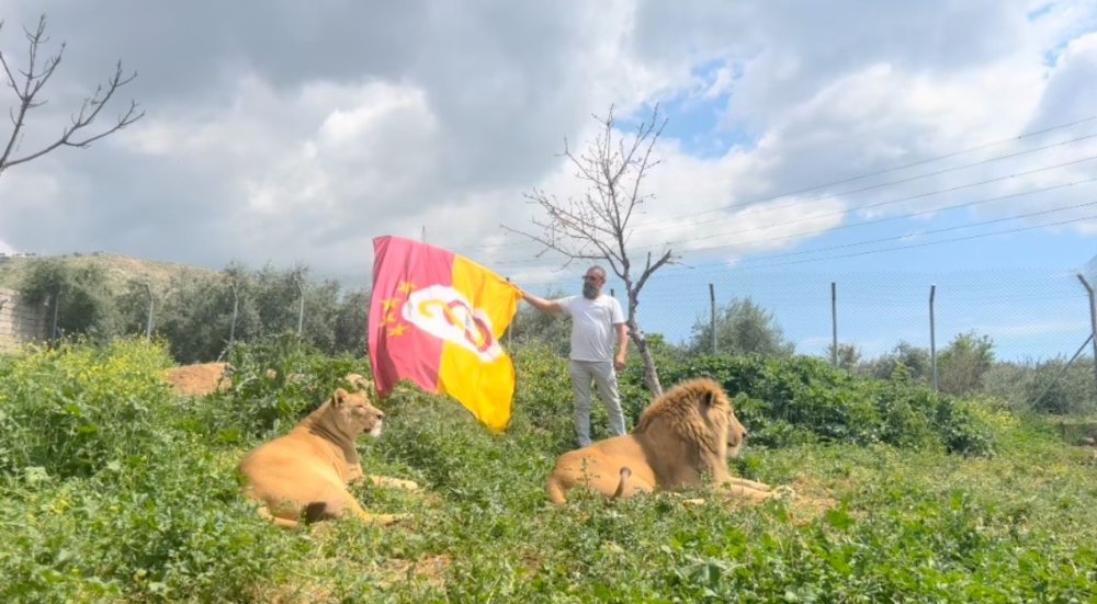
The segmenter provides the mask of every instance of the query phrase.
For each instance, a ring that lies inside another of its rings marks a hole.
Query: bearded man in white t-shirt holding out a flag
[[[606,406],[610,429],[623,435],[624,414],[618,394],[617,374],[624,368],[629,352],[629,333],[624,324],[621,303],[602,295],[606,270],[591,266],[583,276],[583,295],[546,300],[527,292],[522,299],[533,308],[550,315],[572,318],[572,353],[569,371],[575,394],[575,434],[580,447],[590,444],[590,386],[598,385],[598,395]],[[617,337],[617,356],[613,340]]]

